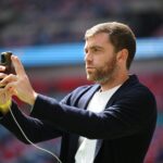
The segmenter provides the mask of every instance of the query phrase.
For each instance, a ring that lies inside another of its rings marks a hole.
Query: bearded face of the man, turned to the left
[[[116,53],[108,37],[108,34],[100,33],[86,40],[85,62],[88,80],[104,84],[113,77],[117,68]]]

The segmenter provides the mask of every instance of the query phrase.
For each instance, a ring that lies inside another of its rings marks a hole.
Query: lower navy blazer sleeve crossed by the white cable
[[[62,135],[62,131],[53,124],[35,117],[30,117],[21,112],[15,103],[12,103],[11,110],[27,138],[33,142],[49,140]],[[2,116],[0,118],[0,123],[8,130],[13,133],[20,140],[25,143],[29,143],[17,127],[17,124],[13,120],[11,112]]]

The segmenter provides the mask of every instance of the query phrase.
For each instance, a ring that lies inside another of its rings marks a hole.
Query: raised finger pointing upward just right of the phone
[[[13,63],[13,65],[14,65],[14,68],[15,68],[16,74],[17,74],[18,76],[25,75],[26,73],[25,73],[24,66],[23,66],[23,64],[21,63],[21,61],[18,60],[18,58],[15,57],[15,55],[12,55],[12,57],[11,57],[11,60],[12,60],[12,63]]]

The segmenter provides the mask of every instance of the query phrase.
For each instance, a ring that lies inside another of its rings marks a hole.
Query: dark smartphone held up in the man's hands
[[[5,71],[3,73],[10,74],[11,73],[11,55],[12,52],[7,51],[1,53],[1,65],[5,66]]]

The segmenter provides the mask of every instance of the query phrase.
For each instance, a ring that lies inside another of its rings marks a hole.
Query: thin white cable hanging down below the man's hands
[[[61,160],[60,160],[54,153],[52,153],[51,151],[48,151],[48,150],[46,150],[46,149],[43,149],[43,148],[41,148],[41,147],[35,145],[33,141],[30,141],[30,140],[28,139],[28,137],[26,136],[26,134],[24,133],[24,130],[22,129],[22,127],[21,127],[21,125],[18,124],[18,122],[16,121],[16,118],[15,118],[15,116],[14,116],[14,114],[13,114],[11,108],[10,108],[10,113],[11,113],[11,115],[12,115],[14,122],[16,123],[17,127],[20,128],[21,133],[23,134],[24,138],[25,138],[32,146],[34,146],[35,148],[37,148],[37,149],[39,149],[39,150],[41,150],[41,151],[43,151],[43,152],[46,152],[46,153],[49,153],[49,154],[52,155],[59,163],[62,163]]]

